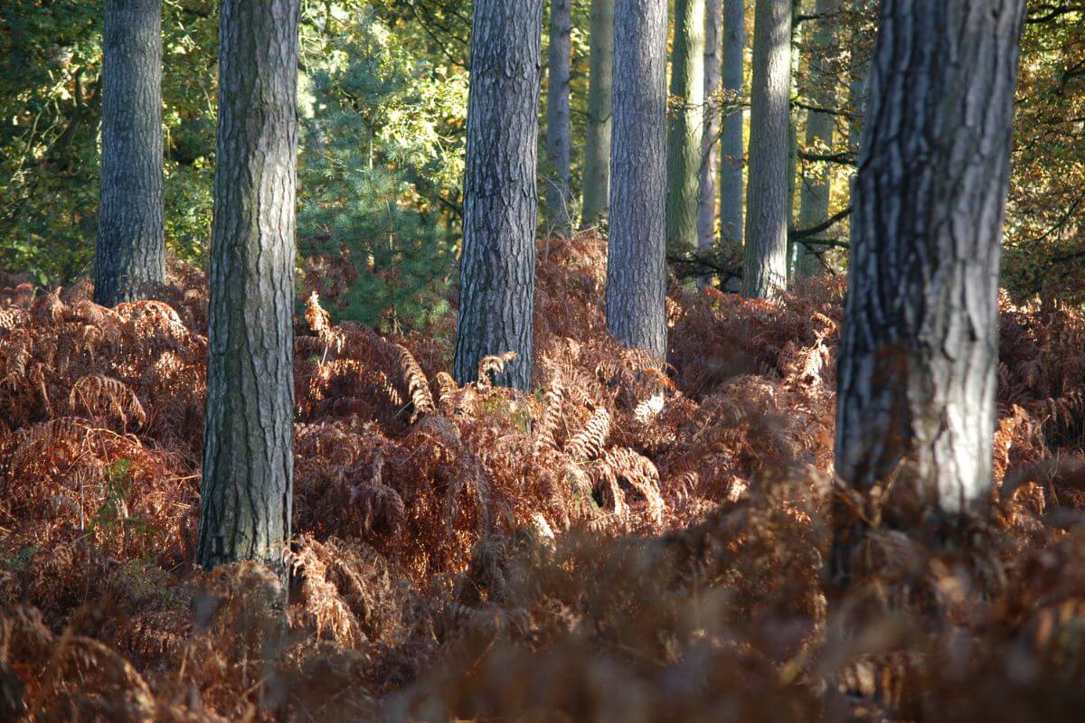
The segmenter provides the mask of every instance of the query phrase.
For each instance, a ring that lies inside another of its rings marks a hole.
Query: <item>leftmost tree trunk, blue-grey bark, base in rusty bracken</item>
[[[166,280],[162,178],[162,2],[106,0],[94,300],[141,298]]]

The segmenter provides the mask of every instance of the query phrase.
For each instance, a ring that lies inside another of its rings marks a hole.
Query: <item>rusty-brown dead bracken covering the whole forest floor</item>
[[[310,299],[289,624],[266,569],[191,564],[203,277],[0,288],[0,720],[1081,720],[1076,311],[1001,300],[991,512],[933,544],[906,472],[876,506],[831,478],[842,280],[672,283],[659,370],[605,333],[604,243],[546,251],[535,395],[456,387],[455,311],[392,337]]]

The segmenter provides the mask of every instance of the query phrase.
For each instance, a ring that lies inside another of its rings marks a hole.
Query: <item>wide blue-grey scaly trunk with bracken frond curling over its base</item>
[[[476,0],[471,34],[463,256],[455,374],[515,351],[495,384],[527,389],[535,297],[535,185],[542,0]]]

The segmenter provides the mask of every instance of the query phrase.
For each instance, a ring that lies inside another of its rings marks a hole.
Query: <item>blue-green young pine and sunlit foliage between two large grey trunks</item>
[[[299,93],[298,246],[341,257],[352,273],[345,289],[307,283],[333,297],[340,318],[424,325],[447,309],[455,267],[465,76],[414,59],[365,10],[326,56]]]

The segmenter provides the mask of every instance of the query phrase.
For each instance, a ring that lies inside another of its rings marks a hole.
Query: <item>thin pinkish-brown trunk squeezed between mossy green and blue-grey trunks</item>
[[[719,173],[719,98],[723,63],[724,0],[707,0],[704,7],[704,98],[706,114],[701,140],[701,205],[698,211],[697,247],[716,245],[716,176]]]

